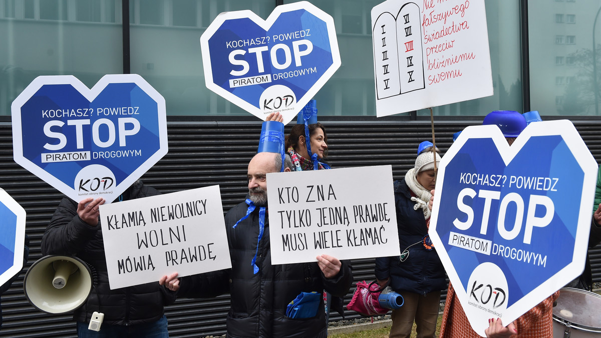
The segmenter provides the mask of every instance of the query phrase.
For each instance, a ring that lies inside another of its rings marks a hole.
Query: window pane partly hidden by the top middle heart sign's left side
[[[129,4],[130,71],[163,95],[168,115],[249,116],[206,88],[198,39],[219,13],[251,10],[267,19],[275,0],[130,0]]]

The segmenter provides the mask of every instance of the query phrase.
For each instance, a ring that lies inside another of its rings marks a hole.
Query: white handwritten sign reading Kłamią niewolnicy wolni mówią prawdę
[[[100,206],[111,289],[231,267],[219,186]]]

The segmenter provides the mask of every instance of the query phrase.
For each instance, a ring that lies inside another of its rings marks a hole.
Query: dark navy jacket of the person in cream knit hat
[[[409,256],[404,262],[398,256],[376,258],[376,278],[390,278],[389,285],[396,292],[426,295],[445,289],[445,270],[436,249],[426,250],[421,243],[428,234],[426,220],[421,209],[413,210],[415,202],[405,180],[394,182],[394,202],[401,253],[408,248]]]

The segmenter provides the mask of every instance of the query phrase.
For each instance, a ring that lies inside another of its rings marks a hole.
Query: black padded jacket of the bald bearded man
[[[272,265],[266,217],[257,253],[259,271],[253,274],[251,260],[257,249],[259,208],[232,228],[246,215],[247,209],[245,203],[240,203],[225,216],[231,270],[183,277],[178,296],[214,297],[229,291],[231,309],[227,316],[227,336],[231,338],[326,337],[323,302],[317,315],[307,319],[288,318],[286,306],[302,291],[321,293],[325,289],[332,295],[344,296],[353,282],[349,262],[342,262],[340,273],[334,279],[326,279],[317,262]]]

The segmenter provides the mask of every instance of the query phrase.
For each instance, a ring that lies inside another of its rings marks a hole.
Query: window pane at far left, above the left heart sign
[[[7,8],[17,20],[11,29],[0,25],[0,36],[16,42],[0,53],[0,115],[10,115],[11,102],[39,75],[69,74],[92,88],[123,72],[121,0],[0,1],[0,12]]]

